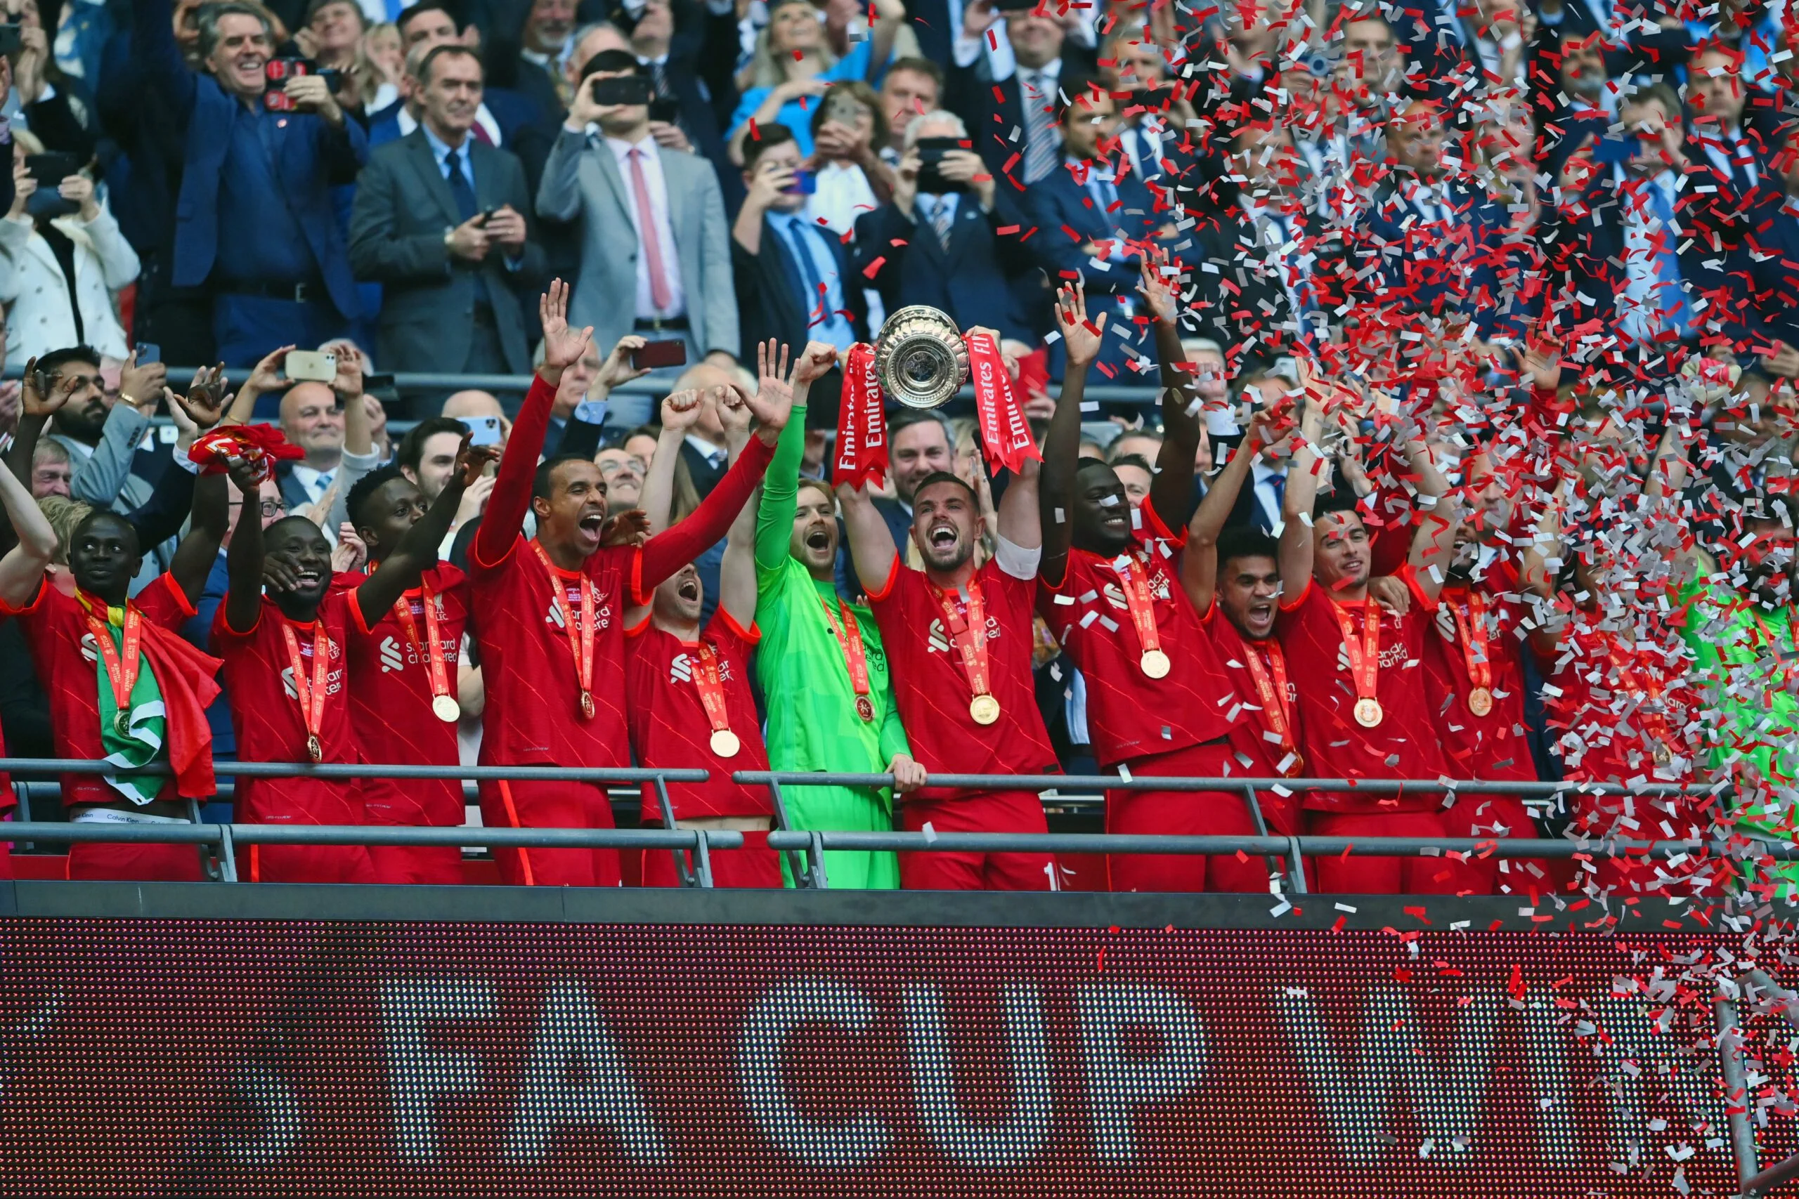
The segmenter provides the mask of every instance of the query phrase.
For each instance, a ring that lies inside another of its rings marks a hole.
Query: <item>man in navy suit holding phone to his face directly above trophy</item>
[[[917,149],[926,137],[971,146],[955,113],[937,110],[912,120],[892,203],[856,218],[856,273],[880,289],[889,313],[928,304],[962,329],[991,325],[1033,342],[1009,288],[1011,277],[1034,264],[1020,239],[1029,221],[973,149],[946,151],[926,171]]]

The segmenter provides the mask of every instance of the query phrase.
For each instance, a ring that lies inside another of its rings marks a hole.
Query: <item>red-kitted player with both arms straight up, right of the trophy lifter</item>
[[[1142,295],[1157,318],[1164,361],[1164,440],[1150,496],[1135,512],[1110,466],[1076,457],[1087,370],[1106,318],[1087,320],[1079,286],[1056,297],[1069,369],[1043,440],[1038,611],[1087,679],[1087,724],[1101,768],[1137,778],[1247,777],[1231,748],[1240,705],[1180,588],[1186,537],[1162,518],[1187,503],[1200,422],[1198,406],[1189,412],[1180,386],[1175,300],[1159,271],[1157,259],[1144,262]],[[1258,836],[1259,829],[1236,791],[1114,789],[1106,793],[1106,832]],[[1261,857],[1112,856],[1108,872],[1114,892],[1268,890]]]

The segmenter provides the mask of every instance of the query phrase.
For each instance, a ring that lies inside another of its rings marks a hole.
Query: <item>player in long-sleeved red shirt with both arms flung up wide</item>
[[[619,768],[630,762],[624,609],[649,604],[664,579],[725,536],[768,466],[786,406],[752,401],[756,435],[693,516],[642,545],[610,545],[606,480],[592,458],[538,464],[563,370],[592,342],[592,329],[568,327],[568,288],[559,279],[540,313],[543,365],[507,439],[468,559],[486,685],[480,760]],[[522,534],[527,511],[538,518],[531,541]],[[515,829],[613,825],[606,791],[594,784],[482,784],[480,811],[484,823]],[[511,884],[619,883],[615,850],[520,848],[497,857]]]

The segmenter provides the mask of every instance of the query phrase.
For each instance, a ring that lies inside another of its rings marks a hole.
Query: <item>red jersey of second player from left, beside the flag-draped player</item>
[[[230,627],[228,604],[219,604],[212,618],[212,649],[225,662],[221,678],[230,696],[230,721],[237,732],[237,759],[245,762],[306,762],[306,715],[293,687],[293,662],[282,627],[293,629],[306,679],[313,676],[315,629],[324,627],[326,667],[324,710],[318,721],[318,748],[326,762],[360,762],[356,732],[351,724],[345,688],[344,653],[349,629],[349,591],[327,591],[318,600],[317,618],[295,624],[281,615],[275,600],[263,597],[255,624]],[[362,793],[354,784],[322,778],[239,778],[236,818],[246,823],[360,825]]]

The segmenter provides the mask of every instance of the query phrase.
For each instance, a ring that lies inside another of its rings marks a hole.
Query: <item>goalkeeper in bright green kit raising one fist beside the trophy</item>
[[[865,606],[837,593],[831,487],[799,478],[808,392],[835,365],[837,351],[824,342],[811,342],[793,363],[793,419],[768,464],[756,516],[756,624],[763,633],[756,671],[768,701],[768,760],[777,771],[891,773],[905,793],[925,782],[925,771],[900,724],[882,629]],[[779,374],[766,347],[761,369],[765,377]],[[795,829],[892,829],[885,789],[784,786],[781,798]],[[900,863],[889,852],[826,850],[824,872],[829,886],[900,886]]]

